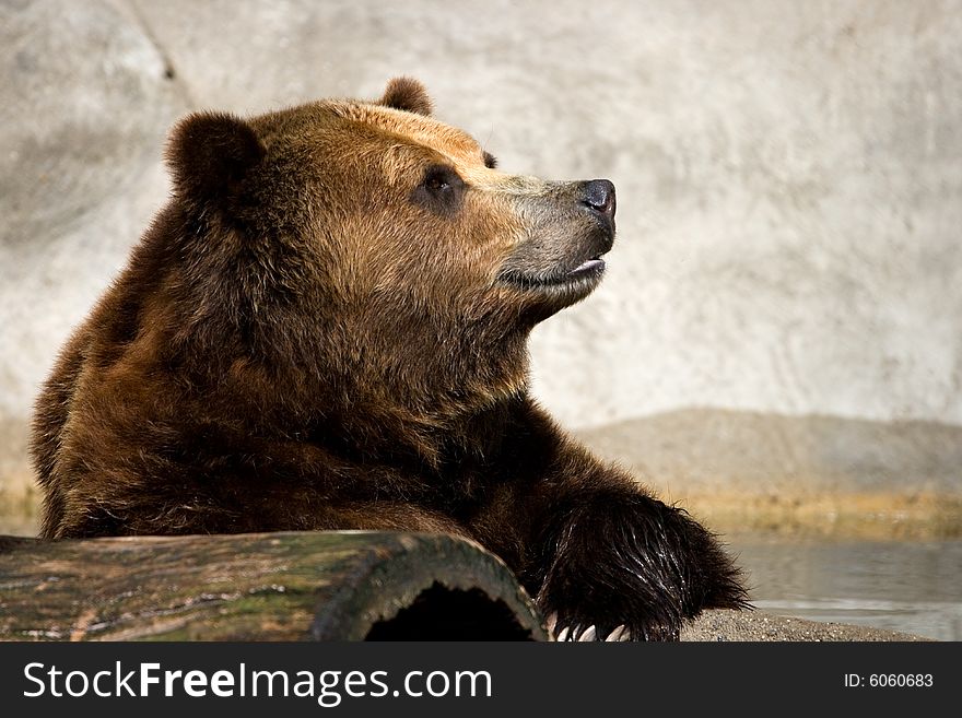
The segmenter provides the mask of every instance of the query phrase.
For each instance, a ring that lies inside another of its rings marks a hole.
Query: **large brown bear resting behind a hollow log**
[[[167,161],[171,201],[37,402],[44,537],[447,532],[570,638],[746,604],[713,534],[528,395],[532,327],[605,271],[611,183],[496,170],[407,78],[192,115]]]

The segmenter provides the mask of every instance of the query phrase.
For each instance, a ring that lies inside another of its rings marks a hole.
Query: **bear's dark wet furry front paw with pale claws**
[[[537,602],[559,639],[677,640],[704,609],[749,605],[717,539],[643,494],[579,506],[554,535]]]

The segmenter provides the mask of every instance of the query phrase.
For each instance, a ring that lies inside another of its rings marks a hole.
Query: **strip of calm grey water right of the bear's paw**
[[[962,640],[962,539],[867,541],[726,538],[752,603],[831,621]]]

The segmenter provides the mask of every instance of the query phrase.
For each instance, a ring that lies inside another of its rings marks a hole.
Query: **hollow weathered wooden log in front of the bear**
[[[477,544],[368,531],[0,537],[2,640],[547,640]]]

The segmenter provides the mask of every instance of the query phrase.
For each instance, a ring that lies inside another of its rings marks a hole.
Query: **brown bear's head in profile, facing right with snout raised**
[[[525,391],[530,329],[601,279],[614,188],[498,172],[431,111],[401,78],[374,102],[183,120],[153,232],[174,351],[429,423]]]

